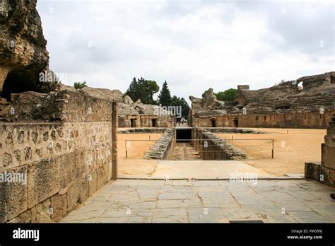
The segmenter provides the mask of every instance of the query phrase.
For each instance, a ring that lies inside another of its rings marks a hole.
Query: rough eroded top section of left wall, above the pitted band
[[[110,102],[71,90],[13,94],[6,122],[104,122],[111,121]]]

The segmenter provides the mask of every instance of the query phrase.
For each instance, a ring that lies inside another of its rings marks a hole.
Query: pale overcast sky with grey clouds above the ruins
[[[127,90],[166,80],[201,97],[335,71],[331,1],[37,1],[50,69],[64,83]]]

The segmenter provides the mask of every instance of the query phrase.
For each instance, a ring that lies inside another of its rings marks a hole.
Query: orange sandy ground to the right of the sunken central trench
[[[258,129],[256,129],[258,130]],[[321,161],[324,129],[261,129],[266,134],[217,134],[245,151],[245,163],[272,175],[304,173],[305,162]],[[288,133],[287,133],[288,131]],[[272,141],[237,139],[274,139],[274,159],[271,159]]]

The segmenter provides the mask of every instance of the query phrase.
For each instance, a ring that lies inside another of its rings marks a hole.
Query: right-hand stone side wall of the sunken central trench
[[[247,154],[206,129],[194,128],[192,141],[203,160],[244,160]]]

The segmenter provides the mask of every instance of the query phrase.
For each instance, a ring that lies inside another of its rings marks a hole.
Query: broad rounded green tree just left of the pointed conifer
[[[148,81],[142,77],[137,80],[133,78],[124,95],[129,95],[134,102],[141,99],[145,104],[155,104],[153,95],[158,93],[158,90],[159,86],[155,81]]]

